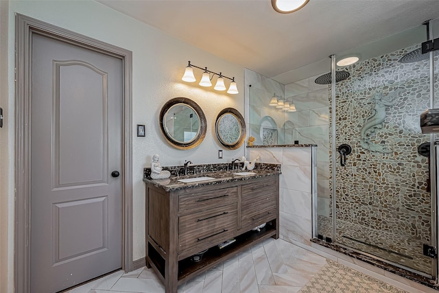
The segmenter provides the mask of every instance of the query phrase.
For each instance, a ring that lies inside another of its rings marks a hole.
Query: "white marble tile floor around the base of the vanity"
[[[325,265],[327,265],[327,259],[320,255],[282,239],[270,238],[180,285],[178,292],[300,292],[300,289]],[[165,288],[155,272],[144,267],[127,274],[122,271],[114,272],[102,279],[73,288],[66,293],[125,292],[164,293]],[[318,292],[324,292],[324,290]],[[374,290],[372,292],[381,291]]]

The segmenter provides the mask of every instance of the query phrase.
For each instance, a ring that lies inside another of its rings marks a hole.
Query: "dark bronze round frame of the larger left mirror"
[[[176,104],[186,104],[190,108],[192,108],[196,115],[198,115],[198,119],[200,119],[200,130],[198,130],[197,135],[194,139],[189,141],[188,143],[182,143],[180,141],[176,141],[173,137],[171,137],[165,128],[165,124],[163,123],[163,119],[165,118],[165,114],[167,111]],[[160,130],[167,140],[169,144],[174,146],[175,148],[178,148],[180,150],[189,150],[191,148],[195,148],[204,140],[204,137],[206,137],[206,116],[204,116],[203,111],[201,110],[200,106],[198,106],[197,103],[193,102],[191,99],[188,99],[187,97],[174,97],[174,99],[169,99],[169,101],[166,102],[166,104],[162,107],[160,111],[160,116],[158,117],[158,123],[160,124]]]

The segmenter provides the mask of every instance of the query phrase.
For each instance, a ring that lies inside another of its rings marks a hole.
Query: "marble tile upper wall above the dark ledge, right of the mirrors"
[[[294,84],[279,84],[263,75],[246,70],[248,86],[248,128],[254,144],[263,144],[263,128],[277,130],[274,144],[327,143],[329,124],[328,86],[307,78]],[[276,94],[296,105],[296,112],[279,110],[268,103]]]

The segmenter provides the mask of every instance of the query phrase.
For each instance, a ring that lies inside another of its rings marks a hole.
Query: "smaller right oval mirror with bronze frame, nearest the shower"
[[[229,150],[236,150],[246,139],[246,121],[236,109],[225,108],[217,116],[215,132],[219,143]]]

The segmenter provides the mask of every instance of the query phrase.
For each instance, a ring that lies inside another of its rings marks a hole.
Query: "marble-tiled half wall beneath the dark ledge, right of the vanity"
[[[311,245],[312,198],[316,193],[316,147],[249,148],[250,160],[282,164],[279,176],[280,234]]]

